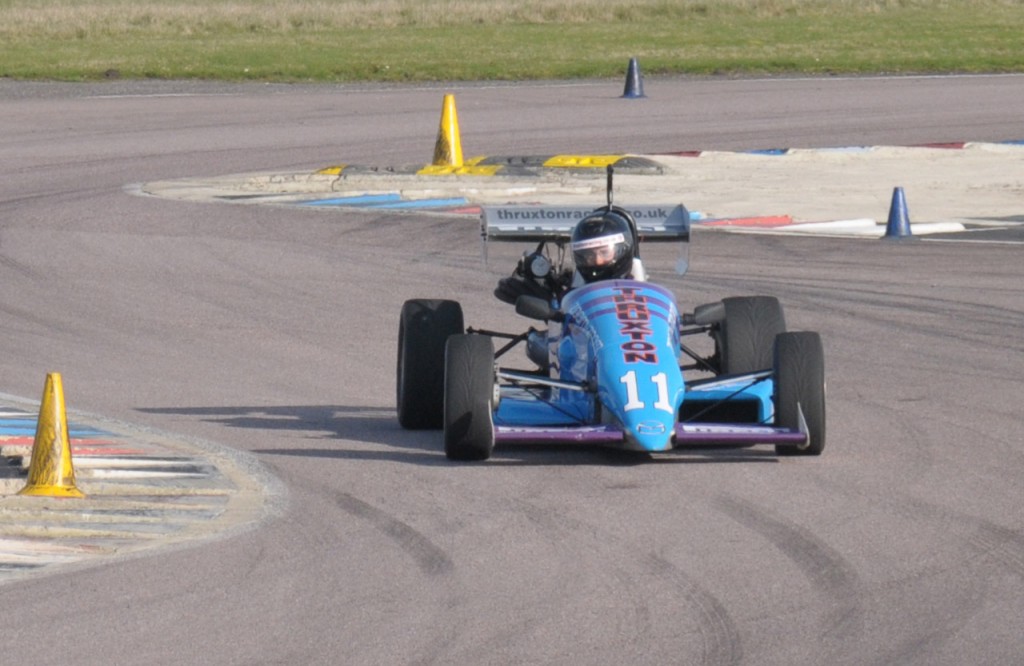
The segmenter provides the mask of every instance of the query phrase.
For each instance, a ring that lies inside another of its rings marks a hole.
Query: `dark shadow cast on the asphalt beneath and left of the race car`
[[[356,446],[307,446],[252,449],[260,455],[337,460],[387,460],[416,465],[479,465],[444,457],[440,430],[407,430],[398,425],[393,409],[357,405],[289,405],[224,407],[136,408],[145,414],[195,416],[228,428],[304,433],[305,440],[329,440]],[[360,448],[359,444],[382,448]],[[544,466],[641,464],[695,464],[777,462],[770,449],[687,449],[665,454],[622,451],[588,445],[500,445],[487,465]]]

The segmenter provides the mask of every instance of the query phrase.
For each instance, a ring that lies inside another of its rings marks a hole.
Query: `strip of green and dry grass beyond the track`
[[[0,76],[424,82],[1024,72],[1022,0],[0,0]]]

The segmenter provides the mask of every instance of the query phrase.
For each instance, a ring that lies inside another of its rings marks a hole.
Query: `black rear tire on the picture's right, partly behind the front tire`
[[[723,298],[725,320],[719,335],[722,374],[771,370],[775,336],[785,332],[782,305],[774,296]]]

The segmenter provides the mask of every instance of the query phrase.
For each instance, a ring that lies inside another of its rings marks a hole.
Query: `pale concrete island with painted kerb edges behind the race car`
[[[624,156],[615,202],[683,204],[694,223],[727,232],[886,235],[905,194],[915,236],[986,232],[1024,222],[1024,144],[852,147],[751,153]],[[250,173],[146,182],[135,192],[186,201],[406,208],[478,213],[480,205],[600,205],[604,168],[554,158],[476,158],[526,164],[480,175],[423,175],[421,167],[342,165],[314,172]],[[557,166],[543,166],[544,164]],[[651,167],[650,165],[653,165]],[[741,184],[740,184],[741,183]]]

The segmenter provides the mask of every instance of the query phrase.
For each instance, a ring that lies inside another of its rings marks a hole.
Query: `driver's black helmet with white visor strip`
[[[584,217],[572,230],[572,261],[584,282],[625,278],[633,268],[636,246],[625,215],[605,209]]]

